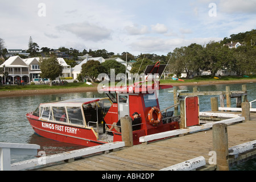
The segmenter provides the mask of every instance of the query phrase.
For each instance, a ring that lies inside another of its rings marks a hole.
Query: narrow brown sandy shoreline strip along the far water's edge
[[[166,85],[172,86],[191,86],[191,85],[217,85],[217,84],[249,84],[255,83],[256,79],[248,80],[234,80],[234,81],[200,81],[200,82],[175,82]],[[97,92],[97,87],[78,87],[78,88],[65,88],[65,89],[38,89],[38,90],[14,90],[14,91],[1,91],[0,98],[3,97],[20,97],[20,96],[36,96],[36,95],[51,95],[51,94],[65,94],[65,93],[81,93],[81,92]]]

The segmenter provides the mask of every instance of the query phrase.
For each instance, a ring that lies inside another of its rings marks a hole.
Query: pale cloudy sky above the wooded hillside
[[[256,0],[0,0],[7,49],[106,49],[167,55],[256,28]]]

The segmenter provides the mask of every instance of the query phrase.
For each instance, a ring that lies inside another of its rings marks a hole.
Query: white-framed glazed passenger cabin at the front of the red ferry
[[[109,98],[77,98],[40,104],[33,115],[42,121],[90,127],[103,121],[111,105]]]

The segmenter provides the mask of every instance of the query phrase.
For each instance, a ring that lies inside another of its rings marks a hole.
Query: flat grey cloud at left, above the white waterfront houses
[[[71,32],[81,39],[92,40],[94,42],[110,39],[112,34],[112,31],[108,28],[100,27],[97,24],[88,22],[63,24],[56,28],[59,31]]]

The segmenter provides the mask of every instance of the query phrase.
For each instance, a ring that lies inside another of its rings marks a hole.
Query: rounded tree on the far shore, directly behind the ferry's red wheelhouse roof
[[[117,76],[119,73],[124,73],[125,74],[125,65],[118,63],[115,60],[107,60],[104,63],[101,64],[102,67],[106,69],[106,74],[108,74],[110,78],[110,70],[115,69],[115,76]]]

